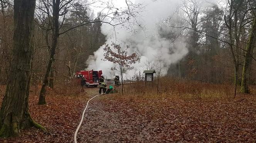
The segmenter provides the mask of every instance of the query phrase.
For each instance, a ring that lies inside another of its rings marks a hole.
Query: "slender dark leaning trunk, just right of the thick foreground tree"
[[[44,82],[42,85],[42,88],[40,90],[39,94],[39,105],[46,104],[45,100],[45,93],[46,93],[46,85],[48,84],[48,78],[52,69],[52,65],[54,62],[54,55],[56,52],[56,47],[57,47],[57,40],[59,37],[59,5],[60,5],[60,0],[52,0],[53,4],[53,16],[52,16],[52,46],[51,46],[51,54],[50,54],[50,59],[48,62],[48,66],[45,72],[44,76]]]

